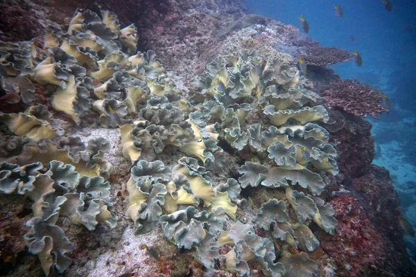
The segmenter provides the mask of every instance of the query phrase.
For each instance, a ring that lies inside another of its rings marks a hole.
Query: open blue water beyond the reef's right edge
[[[356,79],[381,89],[390,98],[390,112],[380,120],[368,118],[379,154],[401,199],[401,211],[416,229],[416,0],[392,1],[385,10],[380,0],[246,0],[250,12],[300,27],[309,23],[309,37],[322,46],[357,50],[363,66],[344,62],[331,66],[343,79]],[[344,10],[337,17],[333,4]],[[354,36],[354,41],[349,39]],[[416,260],[414,238],[406,237]]]

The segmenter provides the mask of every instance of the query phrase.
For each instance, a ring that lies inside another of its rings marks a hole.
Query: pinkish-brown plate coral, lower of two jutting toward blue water
[[[357,80],[341,80],[328,84],[322,92],[331,107],[343,109],[354,116],[369,115],[378,118],[377,114],[387,112],[383,107],[386,98],[378,89]]]

